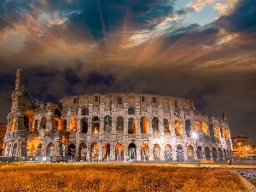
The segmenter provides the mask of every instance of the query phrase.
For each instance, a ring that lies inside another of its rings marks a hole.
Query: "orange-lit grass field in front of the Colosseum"
[[[247,191],[230,169],[0,164],[0,191]]]

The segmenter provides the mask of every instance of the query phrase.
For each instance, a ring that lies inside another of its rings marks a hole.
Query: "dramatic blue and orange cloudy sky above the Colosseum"
[[[256,143],[255,0],[1,0],[0,121],[16,68],[33,98],[179,96]]]

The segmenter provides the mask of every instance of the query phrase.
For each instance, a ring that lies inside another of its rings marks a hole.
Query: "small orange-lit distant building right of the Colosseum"
[[[236,134],[232,137],[233,155],[247,157],[253,155],[253,146],[250,137]]]

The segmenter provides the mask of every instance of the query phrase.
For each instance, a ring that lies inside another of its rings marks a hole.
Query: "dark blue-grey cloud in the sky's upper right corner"
[[[217,25],[231,32],[242,32],[256,27],[256,1],[243,0],[236,5],[231,15],[221,17]]]

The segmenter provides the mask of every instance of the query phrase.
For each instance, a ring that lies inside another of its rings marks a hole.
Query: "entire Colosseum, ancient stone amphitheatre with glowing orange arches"
[[[172,96],[96,93],[40,102],[17,70],[3,156],[19,160],[226,160],[226,116]]]

